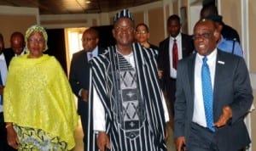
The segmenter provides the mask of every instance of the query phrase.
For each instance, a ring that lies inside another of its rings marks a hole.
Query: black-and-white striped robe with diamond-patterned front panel
[[[94,87],[106,112],[111,150],[166,150],[156,52],[137,43],[132,49],[135,68],[115,47],[92,60],[90,99]],[[90,107],[92,103],[90,100]]]

